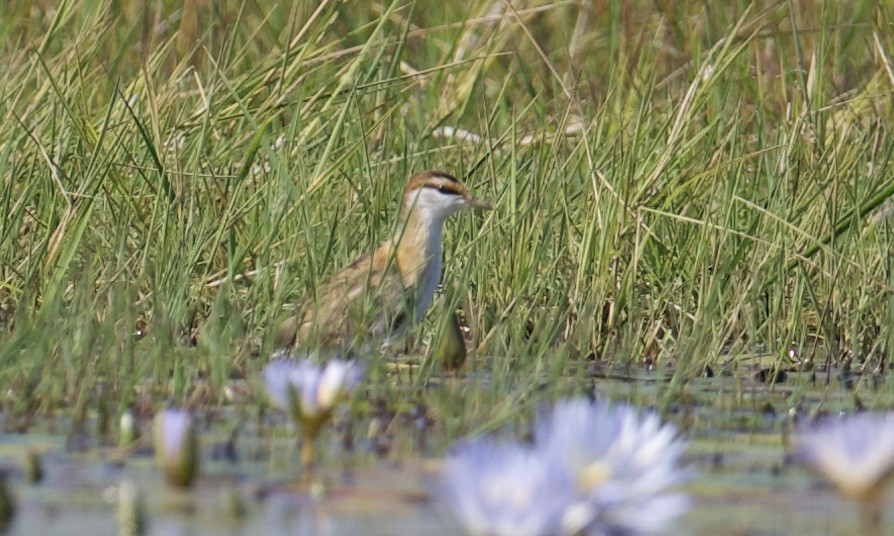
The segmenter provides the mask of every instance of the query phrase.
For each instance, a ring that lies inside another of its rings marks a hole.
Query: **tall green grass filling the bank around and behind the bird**
[[[665,401],[813,340],[887,365],[883,3],[49,4],[0,18],[8,422],[100,384],[223,400],[430,168],[495,205],[448,223],[409,343],[462,310],[469,415],[586,388],[594,358],[672,373]]]

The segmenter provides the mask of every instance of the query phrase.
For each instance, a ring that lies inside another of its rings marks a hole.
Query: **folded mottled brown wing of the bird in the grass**
[[[412,311],[409,295],[387,250],[364,255],[317,290],[300,323],[293,320],[294,345],[344,349],[381,341]]]

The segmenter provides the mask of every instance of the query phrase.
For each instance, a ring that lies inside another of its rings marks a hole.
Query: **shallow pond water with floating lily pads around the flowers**
[[[643,405],[654,403],[658,387],[648,377],[594,383],[604,396]],[[694,506],[667,534],[859,532],[857,505],[840,499],[791,455],[793,432],[810,421],[811,413],[853,410],[852,391],[816,386],[797,374],[775,386],[749,375],[700,379],[687,386],[686,395],[681,397],[685,403],[670,409],[669,420],[690,439],[684,461],[694,477],[684,489]],[[861,393],[859,403],[890,407],[884,405],[890,398],[888,393]],[[414,450],[418,428],[412,424],[394,427],[393,444],[383,457],[368,452],[360,439],[346,453],[327,435],[320,443],[315,483],[308,485],[300,482],[293,462],[294,430],[283,424],[261,429],[248,422],[235,443],[235,456],[223,448],[228,434],[222,426],[203,431],[202,473],[189,491],[168,488],[148,452],[125,455],[100,446],[73,451],[64,435],[49,432],[65,429],[58,422],[28,434],[5,434],[0,459],[9,468],[18,503],[8,533],[118,534],[116,503],[123,479],[141,491],[146,534],[151,535],[462,533],[428,499],[437,454],[445,445]],[[357,435],[365,435],[365,429]],[[432,437],[446,436],[435,430]],[[45,476],[37,484],[26,483],[21,470],[29,450],[42,453]],[[891,497],[885,510],[894,511]],[[892,520],[885,520],[883,533],[894,533]]]

